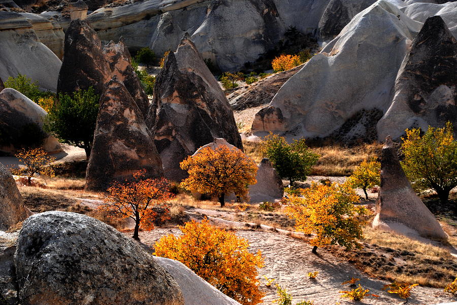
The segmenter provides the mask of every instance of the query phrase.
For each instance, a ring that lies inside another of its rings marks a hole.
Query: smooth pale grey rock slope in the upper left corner
[[[32,24],[20,13],[0,12],[0,78],[18,73],[56,91],[60,59],[40,42]]]

